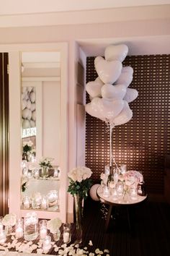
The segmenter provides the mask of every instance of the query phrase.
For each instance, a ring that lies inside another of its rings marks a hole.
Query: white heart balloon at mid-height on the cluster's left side
[[[101,88],[103,85],[104,83],[102,82],[102,80],[100,80],[99,77],[97,77],[95,81],[87,82],[86,91],[93,98],[101,97]]]

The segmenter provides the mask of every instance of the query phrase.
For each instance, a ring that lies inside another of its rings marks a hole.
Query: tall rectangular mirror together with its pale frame
[[[9,213],[34,210],[38,218],[66,222],[68,44],[3,51],[9,52]]]

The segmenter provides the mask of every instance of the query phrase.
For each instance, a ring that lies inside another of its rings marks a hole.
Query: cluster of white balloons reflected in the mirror
[[[22,128],[36,126],[35,88],[22,86]]]

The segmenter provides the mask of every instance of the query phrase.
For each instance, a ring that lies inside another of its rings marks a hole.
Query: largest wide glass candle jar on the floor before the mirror
[[[24,217],[24,239],[32,241],[38,236],[38,218],[36,213],[27,213]]]

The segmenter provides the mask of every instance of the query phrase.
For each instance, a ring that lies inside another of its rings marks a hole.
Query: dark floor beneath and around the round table
[[[85,202],[83,246],[93,242],[95,248],[109,249],[113,256],[169,256],[170,255],[170,205],[147,200],[132,209],[130,227],[126,211],[117,209],[104,231],[104,214],[101,203]]]

